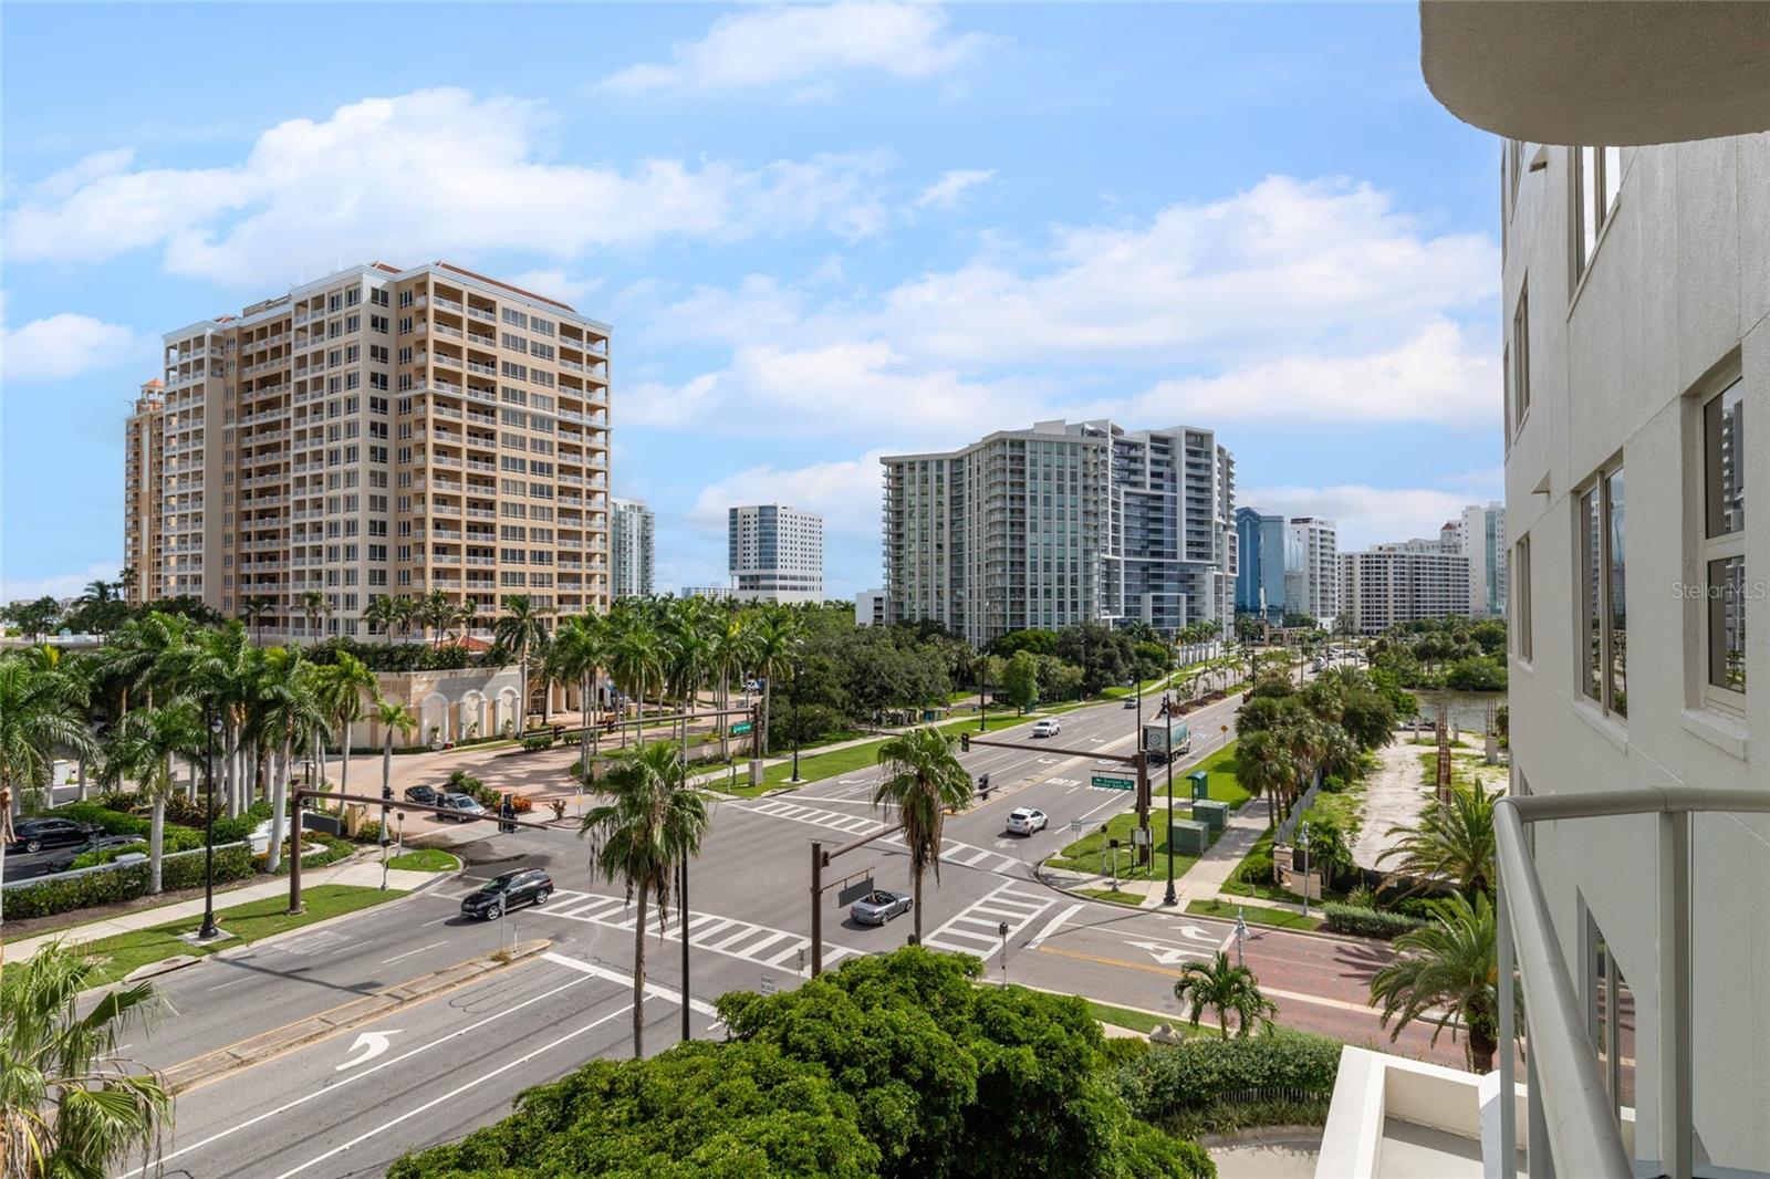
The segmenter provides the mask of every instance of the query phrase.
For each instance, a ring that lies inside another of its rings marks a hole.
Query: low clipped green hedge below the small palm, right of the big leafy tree
[[[1156,1121],[1220,1101],[1326,1099],[1340,1073],[1340,1041],[1280,1030],[1248,1039],[1200,1036],[1152,1048],[1117,1073],[1131,1112]]]

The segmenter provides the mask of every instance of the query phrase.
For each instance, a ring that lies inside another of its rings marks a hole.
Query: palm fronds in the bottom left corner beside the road
[[[4,1174],[108,1175],[142,1152],[143,1174],[172,1126],[172,1090],[154,1073],[133,1073],[117,1041],[163,1006],[152,982],[106,991],[80,1013],[99,982],[99,961],[51,944],[0,981],[0,1117]]]

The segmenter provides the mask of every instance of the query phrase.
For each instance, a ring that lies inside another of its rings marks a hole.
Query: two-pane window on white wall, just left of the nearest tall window
[[[1628,715],[1628,609],[1623,469],[1605,467],[1579,494],[1579,611],[1584,636],[1581,692]]]

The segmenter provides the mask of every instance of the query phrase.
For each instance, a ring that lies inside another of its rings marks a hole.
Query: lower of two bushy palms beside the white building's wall
[[[1469,1071],[1490,1073],[1499,1048],[1499,961],[1496,949],[1494,903],[1485,892],[1474,903],[1453,894],[1434,903],[1437,921],[1395,938],[1398,958],[1370,979],[1370,1004],[1382,1004],[1382,1023],[1393,1043],[1414,1020],[1434,1023],[1439,1032],[1457,1025],[1466,1030],[1464,1057]],[[1522,991],[1513,1002],[1524,1002]]]

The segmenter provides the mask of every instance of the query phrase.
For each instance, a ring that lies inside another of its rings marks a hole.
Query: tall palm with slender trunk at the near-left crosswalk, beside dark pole
[[[609,802],[579,823],[589,836],[591,866],[604,880],[627,883],[634,910],[634,1059],[644,1055],[646,903],[658,899],[658,936],[669,924],[676,866],[701,850],[706,800],[689,788],[689,770],[667,742],[641,749],[602,779]],[[685,997],[687,998],[687,997]]]

